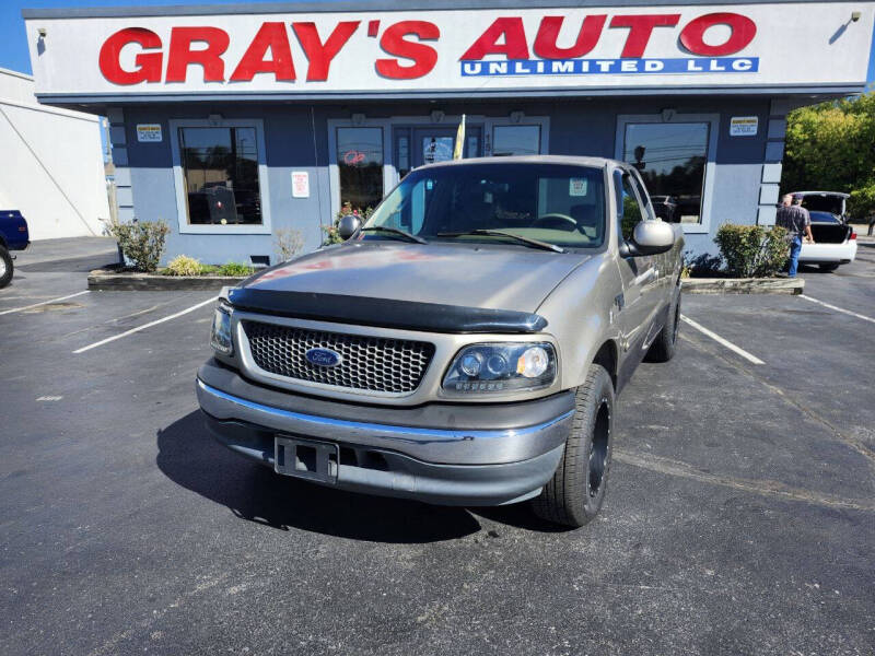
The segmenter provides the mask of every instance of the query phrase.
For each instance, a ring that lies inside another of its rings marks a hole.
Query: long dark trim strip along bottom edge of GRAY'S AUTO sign
[[[697,87],[665,87],[649,86],[640,89],[623,89],[618,91],[616,86],[591,87],[591,89],[537,89],[537,90],[497,90],[471,92],[466,89],[458,90],[430,90],[430,91],[398,91],[398,92],[322,92],[322,93],[290,93],[288,91],[277,92],[252,92],[252,93],[37,93],[36,97],[40,103],[48,105],[70,105],[70,104],[95,104],[95,103],[215,103],[215,102],[240,102],[240,101],[408,101],[408,99],[471,99],[480,101],[488,98],[513,98],[523,101],[527,98],[555,98],[557,95],[563,97],[588,97],[588,96],[684,96],[684,95],[825,95],[839,97],[843,95],[861,93],[865,90],[865,82],[847,84],[818,84],[801,86],[795,84],[786,85],[712,85]]]

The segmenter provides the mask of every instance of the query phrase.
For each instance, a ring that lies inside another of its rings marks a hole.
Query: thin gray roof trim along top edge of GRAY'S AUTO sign
[[[366,11],[435,11],[458,9],[536,9],[585,7],[658,7],[699,4],[785,4],[817,2],[828,4],[847,0],[360,0],[351,2],[255,2],[252,4],[203,4],[167,7],[70,7],[23,9],[24,19],[109,19],[135,16],[199,16],[264,13],[328,13]]]

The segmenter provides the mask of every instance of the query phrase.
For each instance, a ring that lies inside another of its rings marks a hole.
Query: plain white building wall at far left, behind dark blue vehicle
[[[32,79],[0,69],[0,209],[21,210],[31,239],[103,233],[100,130],[95,116],[37,105]]]

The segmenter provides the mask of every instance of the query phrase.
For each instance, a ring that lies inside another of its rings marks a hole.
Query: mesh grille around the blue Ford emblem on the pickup
[[[266,372],[337,387],[402,394],[419,387],[434,355],[429,342],[342,335],[242,321],[255,363]],[[336,366],[311,364],[311,349],[330,349],[342,356]]]

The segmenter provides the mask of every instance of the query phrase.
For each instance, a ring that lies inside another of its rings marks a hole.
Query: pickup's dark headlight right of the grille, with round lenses
[[[547,387],[556,378],[552,344],[494,343],[465,347],[453,359],[443,387],[450,391],[508,391]]]

